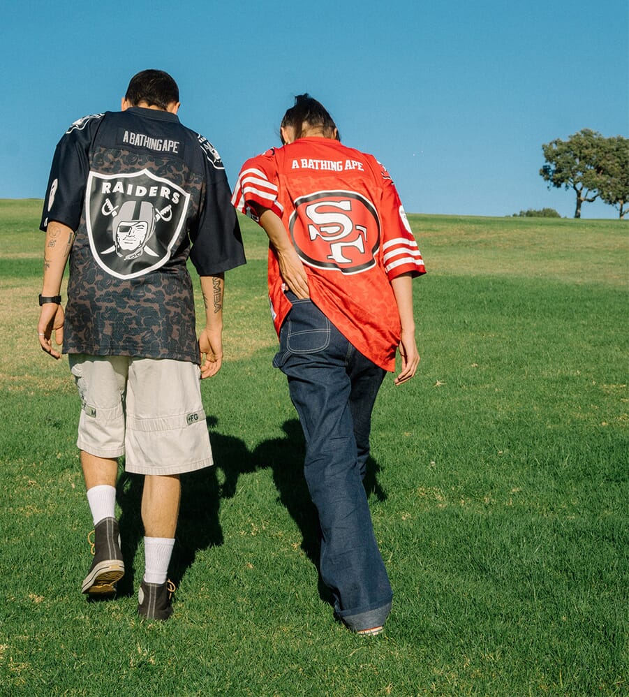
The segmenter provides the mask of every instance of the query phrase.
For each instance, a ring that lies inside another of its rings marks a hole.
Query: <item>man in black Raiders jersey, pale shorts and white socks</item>
[[[120,112],[84,117],[59,141],[46,233],[41,348],[63,344],[82,400],[77,446],[94,518],[82,584],[111,594],[124,574],[115,518],[118,458],[145,475],[145,574],[138,612],[168,619],[179,475],[212,464],[200,378],[223,358],[224,272],[245,263],[220,156],[179,122],[168,73],[135,75]],[[68,302],[61,279],[70,258]],[[206,323],[197,341],[190,257]]]

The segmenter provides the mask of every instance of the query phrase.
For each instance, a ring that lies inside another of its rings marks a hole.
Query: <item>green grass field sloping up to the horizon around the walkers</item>
[[[422,362],[374,413],[394,608],[366,640],[318,587],[249,221],[226,360],[202,383],[216,467],[183,481],[175,613],[136,615],[142,483],[122,473],[127,575],[113,601],[82,596],[79,404],[66,359],[37,342],[39,213],[0,200],[1,695],[629,694],[628,223],[409,217]]]

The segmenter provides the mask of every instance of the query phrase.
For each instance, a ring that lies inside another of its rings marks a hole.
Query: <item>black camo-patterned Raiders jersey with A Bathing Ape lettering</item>
[[[54,154],[49,221],[76,231],[64,353],[199,362],[188,256],[202,276],[245,263],[209,140],[161,110],[80,119]]]

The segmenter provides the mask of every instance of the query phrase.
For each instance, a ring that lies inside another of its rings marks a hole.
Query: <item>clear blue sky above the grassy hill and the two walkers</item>
[[[0,198],[42,198],[68,125],[118,109],[144,68],[177,80],[179,117],[230,184],[309,91],[346,145],[387,166],[408,212],[572,217],[574,193],[538,174],[542,143],[629,136],[627,0],[24,0],[2,14]]]

